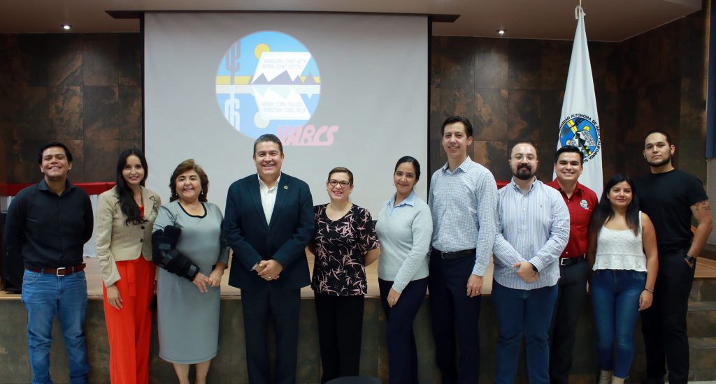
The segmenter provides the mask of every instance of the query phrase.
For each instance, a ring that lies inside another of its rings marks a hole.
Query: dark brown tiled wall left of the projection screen
[[[42,177],[59,140],[73,182],[113,181],[120,149],[142,147],[139,34],[0,34],[0,182]]]

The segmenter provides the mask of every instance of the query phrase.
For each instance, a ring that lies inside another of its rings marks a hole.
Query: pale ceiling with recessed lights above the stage
[[[433,24],[433,34],[526,39],[574,37],[579,0],[0,0],[0,33],[135,32],[136,19],[106,11],[339,11],[460,15]],[[587,36],[621,41],[701,9],[701,0],[584,0]]]

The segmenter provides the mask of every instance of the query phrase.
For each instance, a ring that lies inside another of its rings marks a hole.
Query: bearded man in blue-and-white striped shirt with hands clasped
[[[559,192],[535,177],[535,147],[516,144],[512,182],[498,192],[492,300],[500,338],[496,383],[514,383],[525,335],[531,384],[549,383],[548,330],[557,298],[558,259],[569,240],[569,210]]]

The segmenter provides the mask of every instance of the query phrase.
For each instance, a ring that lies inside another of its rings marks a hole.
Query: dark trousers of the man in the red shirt
[[[584,257],[578,260],[576,264],[559,267],[549,346],[549,378],[553,384],[566,384],[569,378],[577,320],[586,300],[589,263]]]

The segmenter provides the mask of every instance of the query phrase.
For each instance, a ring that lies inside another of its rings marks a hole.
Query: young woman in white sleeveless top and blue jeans
[[[624,383],[634,355],[637,317],[652,305],[659,267],[654,225],[639,211],[634,183],[624,174],[604,186],[591,217],[587,260],[594,270],[591,303],[599,383]]]

